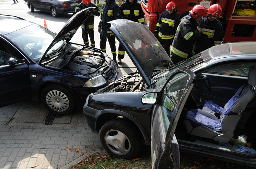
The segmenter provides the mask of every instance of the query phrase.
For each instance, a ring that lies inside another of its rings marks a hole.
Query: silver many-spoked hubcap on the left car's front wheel
[[[69,107],[68,97],[60,91],[50,91],[47,93],[46,103],[52,110],[57,112],[63,112]]]

